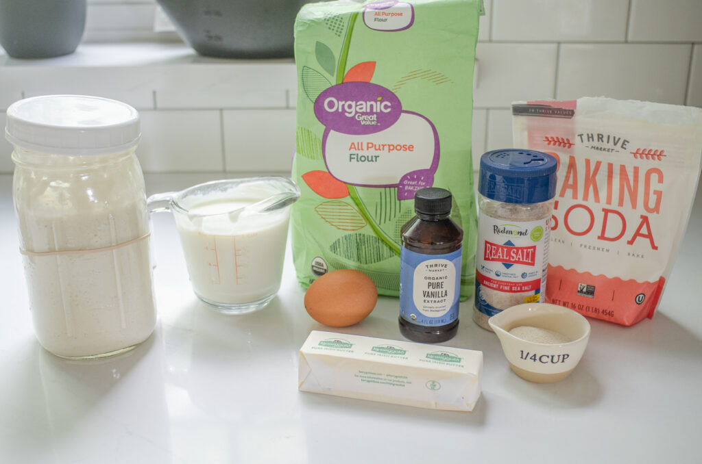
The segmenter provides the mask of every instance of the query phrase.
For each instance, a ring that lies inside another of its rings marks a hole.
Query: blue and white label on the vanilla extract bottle
[[[426,327],[458,319],[461,296],[461,249],[421,254],[402,247],[399,266],[399,315]]]

